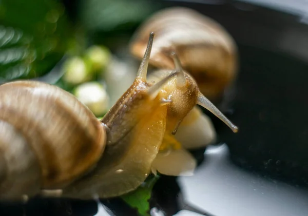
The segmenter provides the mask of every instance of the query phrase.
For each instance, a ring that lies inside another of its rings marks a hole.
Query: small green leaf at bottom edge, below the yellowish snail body
[[[150,215],[149,199],[151,198],[152,188],[158,179],[159,175],[150,176],[143,185],[130,193],[122,195],[121,198],[132,208],[137,208],[140,215]]]

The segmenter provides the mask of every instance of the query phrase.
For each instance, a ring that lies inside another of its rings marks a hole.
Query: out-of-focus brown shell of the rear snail
[[[132,55],[142,58],[150,31],[156,33],[150,64],[174,68],[168,54],[177,53],[184,70],[197,81],[200,91],[212,101],[223,97],[237,75],[237,47],[228,32],[213,19],[195,10],[175,7],[153,14],[134,33]]]

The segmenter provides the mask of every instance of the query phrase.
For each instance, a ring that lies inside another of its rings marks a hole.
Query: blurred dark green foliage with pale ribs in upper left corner
[[[0,81],[44,75],[60,61],[72,32],[53,0],[0,1]]]

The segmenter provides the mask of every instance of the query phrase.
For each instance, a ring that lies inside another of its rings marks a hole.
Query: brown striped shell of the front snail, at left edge
[[[106,131],[72,94],[49,84],[0,86],[0,199],[64,187],[100,159]]]

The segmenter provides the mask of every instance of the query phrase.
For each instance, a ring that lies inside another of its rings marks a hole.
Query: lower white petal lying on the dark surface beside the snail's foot
[[[185,149],[159,152],[152,163],[152,169],[174,176],[192,175],[196,166],[196,159]]]

